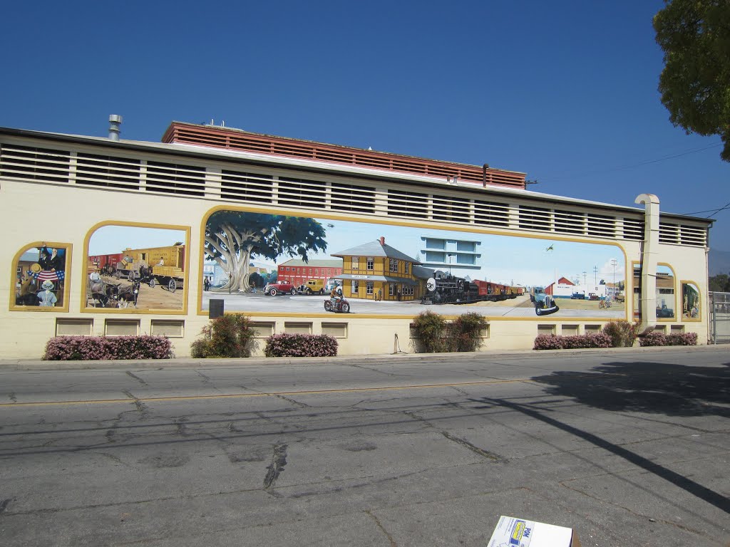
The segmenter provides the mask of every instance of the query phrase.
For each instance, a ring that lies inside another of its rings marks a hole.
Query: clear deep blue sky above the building
[[[656,90],[662,0],[14,2],[0,125],[159,141],[172,120],[526,172],[666,212],[730,202]],[[710,213],[702,213],[704,216]],[[710,244],[730,251],[730,210]]]

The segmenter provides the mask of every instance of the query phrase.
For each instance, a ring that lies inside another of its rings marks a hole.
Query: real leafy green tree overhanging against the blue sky
[[[659,77],[669,120],[687,133],[719,135],[730,161],[730,4],[727,0],[665,0],[654,16],[664,50]]]

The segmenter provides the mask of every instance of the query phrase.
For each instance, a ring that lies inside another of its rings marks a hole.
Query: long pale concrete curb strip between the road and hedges
[[[596,355],[622,353],[666,353],[666,352],[728,352],[730,346],[658,346],[601,349],[548,349],[536,352],[533,349],[487,350],[462,353],[399,353],[372,355],[338,355],[337,357],[247,357],[241,359],[193,359],[192,357],[164,360],[99,360],[99,361],[44,361],[39,359],[0,360],[0,371],[73,371],[89,369],[162,369],[162,368],[219,368],[258,366],[306,366],[346,365],[358,362],[401,360],[410,361],[453,361],[482,357],[485,360],[515,357],[556,357],[560,355]]]

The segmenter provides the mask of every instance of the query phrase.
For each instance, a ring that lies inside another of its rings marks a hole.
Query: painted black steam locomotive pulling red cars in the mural
[[[524,287],[512,287],[479,279],[469,280],[450,274],[435,276],[426,282],[423,302],[433,304],[466,304],[472,302],[499,302],[517,298]]]

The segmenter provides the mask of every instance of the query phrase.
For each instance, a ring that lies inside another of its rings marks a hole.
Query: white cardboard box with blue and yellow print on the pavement
[[[500,516],[487,547],[580,547],[572,528]]]

